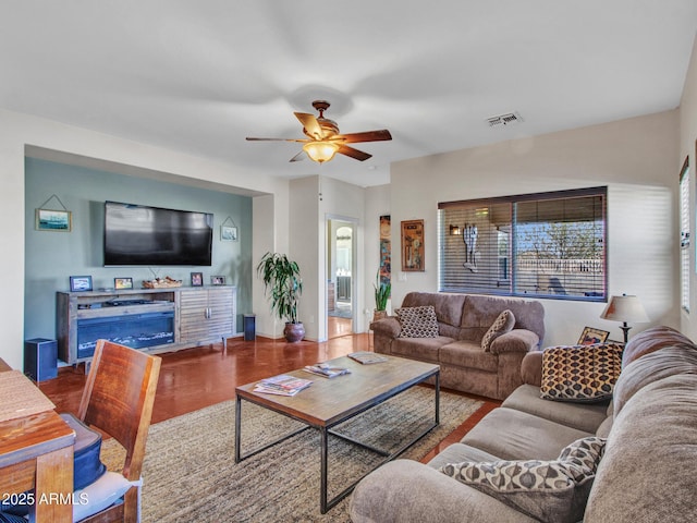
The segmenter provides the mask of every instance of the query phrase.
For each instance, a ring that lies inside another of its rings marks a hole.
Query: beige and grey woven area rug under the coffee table
[[[401,458],[419,460],[481,405],[441,392],[440,425]],[[418,426],[432,422],[433,390],[413,387],[338,427],[343,434],[394,450]],[[307,429],[241,463],[234,462],[234,401],[174,417],[150,427],[143,465],[143,522],[350,522],[348,499],[327,514],[319,510],[319,433]],[[301,427],[298,422],[243,402],[242,449]],[[381,458],[330,438],[329,496],[364,475]],[[123,452],[113,440],[102,460],[118,470]]]

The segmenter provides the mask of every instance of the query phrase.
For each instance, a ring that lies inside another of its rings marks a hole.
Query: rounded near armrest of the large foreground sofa
[[[535,521],[412,460],[392,461],[368,474],[353,491],[348,513],[353,523]]]

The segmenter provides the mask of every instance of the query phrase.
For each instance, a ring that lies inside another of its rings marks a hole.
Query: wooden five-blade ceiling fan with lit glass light
[[[372,155],[355,149],[346,144],[357,144],[360,142],[381,142],[392,139],[392,135],[387,129],[379,131],[366,131],[363,133],[340,134],[339,125],[333,120],[325,118],[325,111],[329,109],[329,102],[325,100],[313,101],[313,107],[319,111],[319,117],[306,112],[295,112],[295,118],[303,124],[303,132],[307,138],[254,138],[247,136],[253,142],[297,142],[303,145],[303,150],[291,158],[290,161],[299,161],[303,154],[318,163],[330,161],[337,153],[348,156],[356,160],[365,161]]]

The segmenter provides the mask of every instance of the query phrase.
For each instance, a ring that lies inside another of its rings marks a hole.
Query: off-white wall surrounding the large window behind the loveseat
[[[439,202],[608,185],[609,293],[637,294],[650,325],[677,327],[677,129],[669,111],[393,163],[393,302],[438,289]],[[401,273],[400,221],[411,219],[425,220],[426,271]],[[576,342],[585,326],[623,339],[599,318],[604,304],[542,303],[547,345]]]

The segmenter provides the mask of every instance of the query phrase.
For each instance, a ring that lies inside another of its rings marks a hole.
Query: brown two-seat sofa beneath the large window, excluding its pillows
[[[437,292],[411,292],[402,302],[402,307],[425,305],[436,309],[438,337],[402,338],[400,321],[389,316],[370,324],[375,352],[437,363],[442,387],[487,398],[502,400],[523,382],[523,356],[545,337],[540,302]],[[515,316],[513,330],[482,350],[482,337],[505,309]]]

